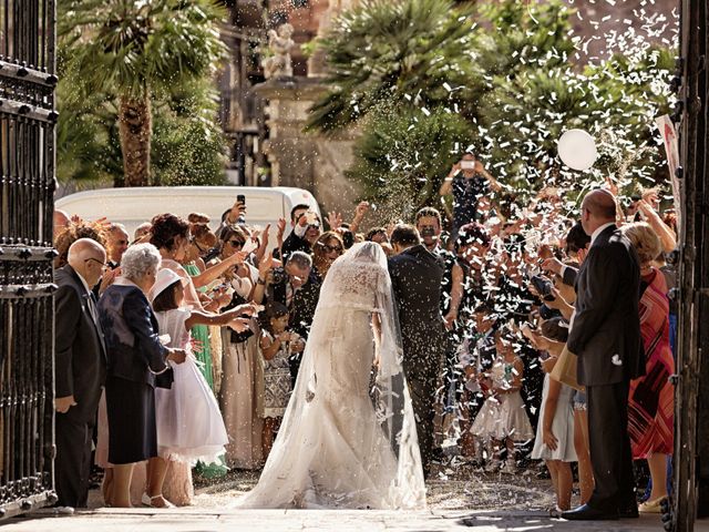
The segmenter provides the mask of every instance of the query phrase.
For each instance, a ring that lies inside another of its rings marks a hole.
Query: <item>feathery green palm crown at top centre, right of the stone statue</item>
[[[333,132],[383,101],[453,105],[470,86],[469,7],[451,0],[364,0],[318,42],[330,90],[311,109],[309,129]]]

